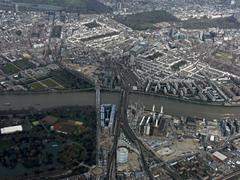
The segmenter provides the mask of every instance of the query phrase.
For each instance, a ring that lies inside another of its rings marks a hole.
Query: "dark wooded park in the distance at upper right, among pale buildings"
[[[239,29],[240,23],[234,17],[221,17],[209,19],[203,17],[201,19],[188,19],[181,21],[165,10],[157,10],[150,12],[142,12],[132,15],[116,15],[115,20],[131,27],[134,30],[155,29],[154,24],[161,22],[175,23],[176,26],[185,29],[207,29],[207,28],[222,28],[222,29]]]

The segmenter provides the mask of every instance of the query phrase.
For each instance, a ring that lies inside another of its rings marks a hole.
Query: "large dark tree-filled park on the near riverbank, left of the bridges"
[[[1,135],[0,179],[42,179],[49,173],[62,179],[68,169],[74,169],[69,176],[89,171],[88,168],[76,169],[79,163],[90,167],[96,164],[95,107],[69,106],[10,113],[24,125],[25,131]],[[2,124],[3,127],[12,124],[8,122],[8,115],[3,117],[7,123]]]

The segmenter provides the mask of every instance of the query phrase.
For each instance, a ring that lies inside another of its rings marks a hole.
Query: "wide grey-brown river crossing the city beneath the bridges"
[[[74,105],[94,105],[96,104],[96,93],[92,91],[78,92],[54,92],[36,94],[4,94],[0,95],[0,110],[21,110],[34,107],[37,109],[74,106]],[[120,92],[101,91],[101,103],[118,104],[120,102]],[[240,107],[224,107],[200,105],[169,99],[159,96],[130,93],[129,103],[140,103],[146,109],[151,109],[155,104],[159,110],[164,107],[165,113],[180,116],[198,116],[205,118],[222,118],[228,116],[240,117]]]

